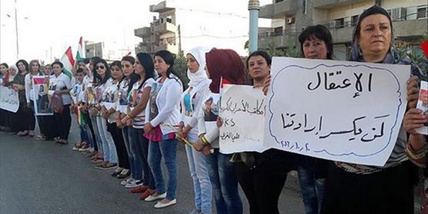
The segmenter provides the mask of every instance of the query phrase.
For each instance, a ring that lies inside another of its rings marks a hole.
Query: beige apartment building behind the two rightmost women
[[[259,18],[271,19],[270,29],[259,29],[259,47],[299,47],[297,37],[306,26],[323,24],[333,36],[336,58],[345,60],[358,16],[375,4],[391,14],[397,40],[416,45],[426,34],[427,0],[273,0],[259,12]]]

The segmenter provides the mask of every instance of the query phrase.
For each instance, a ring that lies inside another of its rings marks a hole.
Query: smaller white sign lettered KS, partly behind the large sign
[[[222,91],[220,152],[231,154],[266,150],[263,146],[266,101],[262,90],[253,89],[252,86],[223,85]]]

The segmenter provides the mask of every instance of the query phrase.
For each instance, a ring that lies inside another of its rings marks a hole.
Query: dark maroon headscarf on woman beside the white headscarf
[[[207,68],[212,80],[210,90],[220,91],[220,79],[231,84],[242,84],[245,80],[245,67],[239,55],[230,49],[213,49],[206,54]]]

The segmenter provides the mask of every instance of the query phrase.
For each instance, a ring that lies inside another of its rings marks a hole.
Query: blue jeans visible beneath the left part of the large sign
[[[298,166],[300,190],[306,214],[318,214],[321,211],[324,196],[325,178],[316,179],[313,170]]]

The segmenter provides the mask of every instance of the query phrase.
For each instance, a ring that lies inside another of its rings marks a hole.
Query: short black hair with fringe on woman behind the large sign
[[[309,26],[300,33],[299,42],[300,52],[302,54],[301,56],[304,57],[303,42],[313,38],[318,38],[324,41],[325,46],[327,47],[327,59],[333,59],[333,39],[331,37],[331,33],[327,27],[321,24]]]

